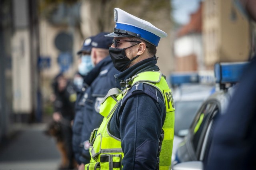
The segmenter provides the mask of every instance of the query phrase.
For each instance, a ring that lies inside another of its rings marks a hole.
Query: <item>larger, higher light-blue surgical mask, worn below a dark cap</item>
[[[78,72],[81,75],[87,75],[94,67],[92,63],[92,59],[90,55],[82,55],[81,63],[78,65]]]

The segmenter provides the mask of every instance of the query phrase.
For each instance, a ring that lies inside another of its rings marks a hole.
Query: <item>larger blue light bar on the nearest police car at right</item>
[[[216,83],[236,83],[249,62],[216,63],[214,74]]]

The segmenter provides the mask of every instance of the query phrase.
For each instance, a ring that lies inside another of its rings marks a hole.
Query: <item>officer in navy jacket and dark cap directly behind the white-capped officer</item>
[[[90,57],[95,67],[83,75],[86,91],[78,101],[79,111],[76,112],[73,125],[73,148],[76,151],[76,160],[84,170],[84,164],[90,161],[88,140],[94,128],[98,128],[103,117],[98,113],[99,106],[108,90],[118,87],[114,75],[119,73],[114,68],[108,53],[112,38],[106,38],[106,32],[101,32],[91,37],[87,47],[91,49]],[[82,128],[82,129],[81,129]]]

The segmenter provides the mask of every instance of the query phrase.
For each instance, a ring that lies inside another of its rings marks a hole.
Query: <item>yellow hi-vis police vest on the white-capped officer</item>
[[[132,77],[133,85],[146,83],[156,87],[162,93],[166,105],[166,119],[164,121],[164,139],[160,152],[160,170],[171,169],[172,144],[174,137],[174,101],[172,92],[160,71],[145,71]],[[130,89],[130,88],[129,88]],[[91,160],[85,165],[85,170],[121,170],[124,153],[121,148],[121,139],[108,132],[108,123],[121,99],[129,89],[120,91],[118,88],[110,89],[100,106],[100,114],[104,116],[99,128],[94,129],[90,142]]]

